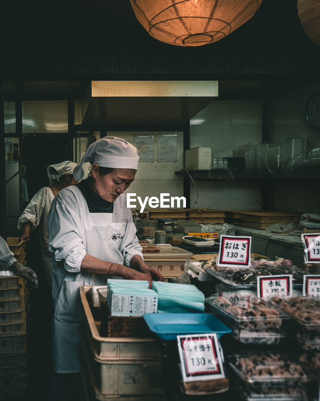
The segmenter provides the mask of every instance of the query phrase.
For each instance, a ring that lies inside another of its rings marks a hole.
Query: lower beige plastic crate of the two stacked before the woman
[[[114,360],[98,358],[80,330],[82,351],[96,397],[136,397],[164,395],[161,360]]]

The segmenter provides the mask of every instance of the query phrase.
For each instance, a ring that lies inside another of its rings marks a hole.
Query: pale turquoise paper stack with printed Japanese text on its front
[[[112,316],[156,313],[158,294],[147,281],[108,279],[107,304]]]

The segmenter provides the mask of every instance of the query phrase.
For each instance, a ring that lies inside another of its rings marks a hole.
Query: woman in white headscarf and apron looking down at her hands
[[[63,383],[68,383],[71,391],[74,374],[80,372],[80,286],[105,285],[110,277],[148,280],[150,286],[152,280],[163,281],[161,273],[143,261],[123,193],[134,180],[138,160],[134,146],[106,136],[88,147],[74,169],[74,178],[80,180],[84,174],[82,164],[91,162],[91,175],[61,190],[52,203],[48,223],[49,250],[53,254],[52,337],[56,374],[47,400],[62,399],[65,391],[58,394],[55,389],[66,390]]]

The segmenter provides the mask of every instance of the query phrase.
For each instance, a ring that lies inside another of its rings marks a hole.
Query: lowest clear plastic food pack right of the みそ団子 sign
[[[308,377],[288,354],[234,355],[229,358],[232,382],[246,400],[306,400]]]

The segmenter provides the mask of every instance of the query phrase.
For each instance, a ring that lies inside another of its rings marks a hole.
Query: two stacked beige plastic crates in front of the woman
[[[98,306],[92,306],[93,298],[90,300],[88,296],[90,289],[90,286],[80,287],[84,312],[79,353],[82,401],[167,400],[161,381],[161,353],[155,341],[121,334],[117,337],[100,336],[100,321],[94,318],[99,315],[94,311]],[[137,318],[132,319],[131,326],[130,322],[126,326],[130,328],[130,334],[137,322]],[[124,327],[120,326],[119,333]]]

